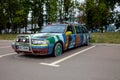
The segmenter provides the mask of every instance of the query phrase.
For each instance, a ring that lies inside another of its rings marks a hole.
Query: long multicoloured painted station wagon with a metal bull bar
[[[12,43],[15,52],[33,55],[60,56],[63,51],[90,44],[90,34],[84,25],[54,24],[36,34],[18,35]]]

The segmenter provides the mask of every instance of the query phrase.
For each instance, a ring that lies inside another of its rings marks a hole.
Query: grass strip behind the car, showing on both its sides
[[[18,34],[0,34],[0,40],[13,40]],[[92,33],[91,43],[120,44],[120,32]]]

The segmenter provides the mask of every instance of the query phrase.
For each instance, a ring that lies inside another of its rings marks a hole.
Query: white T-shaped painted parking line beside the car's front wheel
[[[41,65],[46,65],[46,66],[51,66],[51,67],[60,67],[60,65],[57,65],[58,63],[61,63],[61,62],[65,61],[65,60],[68,60],[68,59],[70,59],[70,58],[72,58],[72,57],[74,57],[74,56],[76,56],[76,55],[78,55],[78,54],[81,54],[81,53],[83,53],[83,52],[85,52],[85,51],[87,51],[87,50],[90,50],[90,49],[92,49],[92,48],[94,48],[94,47],[95,47],[95,46],[86,48],[86,49],[84,49],[84,50],[81,50],[81,51],[79,51],[79,52],[76,52],[76,53],[74,53],[74,54],[72,54],[72,55],[70,55],[70,56],[67,56],[67,57],[62,58],[62,59],[57,60],[57,61],[54,61],[54,62],[52,62],[52,63],[40,63],[40,64],[41,64]]]

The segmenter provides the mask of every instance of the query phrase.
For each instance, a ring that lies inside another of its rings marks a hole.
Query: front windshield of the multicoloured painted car
[[[39,33],[64,33],[66,25],[51,25],[46,26]]]

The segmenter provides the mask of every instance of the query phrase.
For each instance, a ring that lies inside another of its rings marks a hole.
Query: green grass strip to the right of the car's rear
[[[92,33],[91,42],[120,44],[120,32]]]

